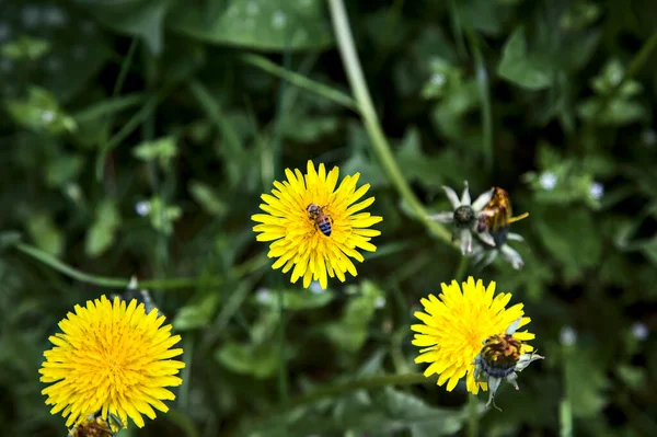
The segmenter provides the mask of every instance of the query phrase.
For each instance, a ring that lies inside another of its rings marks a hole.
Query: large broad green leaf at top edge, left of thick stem
[[[223,4],[226,3],[226,4]],[[321,0],[180,3],[168,25],[206,43],[260,50],[321,49],[333,44]]]

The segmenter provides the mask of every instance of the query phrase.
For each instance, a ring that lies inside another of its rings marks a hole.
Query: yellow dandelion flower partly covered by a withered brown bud
[[[442,294],[438,298],[429,295],[428,299],[420,300],[426,312],[415,312],[415,317],[424,324],[411,326],[417,333],[413,344],[423,347],[415,363],[430,363],[424,372],[426,377],[438,373],[438,386],[447,382],[448,391],[452,391],[463,377],[469,392],[476,394],[480,388],[487,390],[487,382],[482,380],[487,375],[479,375],[482,371],[475,367],[475,358],[482,352],[485,341],[489,343],[506,334],[509,340],[518,342],[512,343],[517,345],[517,348],[512,348],[512,359],[516,360],[512,365],[521,363],[522,366],[518,366],[516,370],[527,367],[525,363],[531,357],[523,354],[532,352],[533,347],[522,342],[534,338],[534,334],[516,332],[516,329],[530,322],[529,318],[523,317],[522,303],[506,308],[511,300],[510,294],[500,292],[495,296],[495,281],[491,281],[486,288],[481,279],[475,284],[472,276],[462,284],[462,291],[456,280],[440,286]],[[542,357],[535,356],[533,359],[539,358]],[[493,372],[494,366],[495,364],[486,368]],[[514,366],[504,376],[511,372]]]

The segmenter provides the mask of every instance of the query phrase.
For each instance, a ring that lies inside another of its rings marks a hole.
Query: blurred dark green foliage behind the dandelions
[[[468,269],[526,303],[546,356],[481,435],[568,435],[572,416],[578,436],[656,436],[657,2],[346,3],[427,210],[468,180],[530,212],[523,269]],[[351,95],[324,1],[0,0],[0,435],[66,435],[47,337],[132,275],[187,367],[171,412],[122,436],[473,435],[464,384],[381,379],[424,370],[412,314],[460,254],[408,212]],[[272,271],[251,230],[309,159],[360,172],[384,217],[325,291]]]

